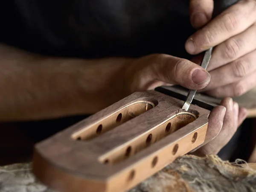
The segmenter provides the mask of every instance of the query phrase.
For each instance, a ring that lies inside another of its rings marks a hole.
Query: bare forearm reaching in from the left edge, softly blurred
[[[48,58],[0,45],[0,121],[95,113],[121,99],[112,77],[124,62]]]

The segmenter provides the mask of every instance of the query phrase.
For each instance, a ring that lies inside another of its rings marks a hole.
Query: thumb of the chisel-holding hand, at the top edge
[[[212,18],[213,0],[190,0],[190,23],[195,28],[201,28]]]

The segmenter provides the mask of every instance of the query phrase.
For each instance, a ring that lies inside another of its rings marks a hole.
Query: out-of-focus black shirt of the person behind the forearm
[[[0,41],[44,55],[188,57],[189,0],[2,0]]]

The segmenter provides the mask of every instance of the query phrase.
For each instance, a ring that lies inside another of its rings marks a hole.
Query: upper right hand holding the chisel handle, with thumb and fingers
[[[241,96],[256,87],[256,0],[240,0],[209,22],[212,10],[213,0],[190,0],[192,26],[202,28],[188,38],[186,51],[194,55],[215,47],[207,68],[211,81],[198,92]],[[201,58],[192,61],[199,64]]]

